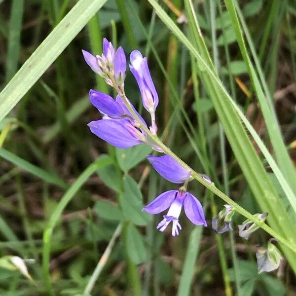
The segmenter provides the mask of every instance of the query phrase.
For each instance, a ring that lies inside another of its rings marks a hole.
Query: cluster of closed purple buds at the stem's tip
[[[105,78],[105,81],[113,85],[113,81],[122,85],[126,74],[126,57],[122,47],[115,51],[111,42],[103,39],[103,54],[94,56],[86,50],[82,50],[85,62],[97,74]]]

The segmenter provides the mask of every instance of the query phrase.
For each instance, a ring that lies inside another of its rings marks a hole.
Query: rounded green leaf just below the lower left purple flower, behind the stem
[[[152,148],[145,144],[127,149],[116,148],[116,158],[120,168],[127,172],[142,161],[151,151]]]

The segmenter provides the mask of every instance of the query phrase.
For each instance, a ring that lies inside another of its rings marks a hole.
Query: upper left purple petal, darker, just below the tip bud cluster
[[[91,89],[89,91],[89,100],[101,113],[111,118],[122,118],[124,111],[111,96]]]

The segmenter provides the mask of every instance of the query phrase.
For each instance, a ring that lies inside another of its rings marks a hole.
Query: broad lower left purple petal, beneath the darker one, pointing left
[[[109,144],[118,148],[129,148],[141,143],[127,130],[129,122],[126,119],[101,119],[91,121],[88,126],[92,133]]]

